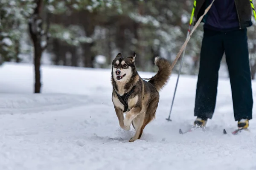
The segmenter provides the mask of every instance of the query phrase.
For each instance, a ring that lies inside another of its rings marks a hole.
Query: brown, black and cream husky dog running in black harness
[[[154,63],[159,70],[147,82],[137,72],[135,57],[136,53],[130,57],[117,54],[111,72],[112,102],[119,125],[124,130],[130,130],[132,124],[136,130],[129,142],[140,139],[145,126],[155,118],[159,91],[168,82],[172,72],[167,59],[156,57]],[[125,119],[123,113],[126,113]]]

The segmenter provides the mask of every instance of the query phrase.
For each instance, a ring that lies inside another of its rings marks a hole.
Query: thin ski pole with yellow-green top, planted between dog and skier
[[[194,1],[194,4],[193,4],[193,9],[192,9],[191,17],[190,17],[190,21],[189,21],[189,29],[188,29],[186,38],[189,37],[189,33],[190,33],[190,29],[191,29],[192,22],[193,22],[193,17],[194,17],[195,6],[196,6],[196,0]],[[182,68],[182,65],[183,65],[183,58],[184,58],[184,55],[185,55],[185,51],[186,51],[186,47],[184,48],[184,51],[183,51],[183,54],[182,54],[182,57],[181,57],[180,69],[179,69],[179,72],[178,72],[178,77],[177,77],[177,82],[176,82],[176,85],[175,85],[174,95],[173,95],[173,98],[172,98],[172,105],[171,105],[169,117],[166,118],[166,120],[167,120],[168,122],[169,122],[169,121],[172,121],[172,120],[170,119],[170,117],[171,117],[171,113],[172,113],[172,107],[173,107],[173,103],[174,103],[174,99],[175,99],[175,94],[176,94],[176,90],[177,90],[177,85],[178,85],[179,78],[180,78],[181,68]]]

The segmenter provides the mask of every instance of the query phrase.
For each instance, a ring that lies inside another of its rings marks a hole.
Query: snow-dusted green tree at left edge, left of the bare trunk
[[[33,0],[0,1],[0,63],[20,61],[20,40],[33,6]]]

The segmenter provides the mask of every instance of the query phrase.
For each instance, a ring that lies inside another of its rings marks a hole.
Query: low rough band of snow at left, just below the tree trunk
[[[88,96],[67,94],[2,94],[0,96],[0,113],[37,113],[43,111],[63,110],[89,102]]]

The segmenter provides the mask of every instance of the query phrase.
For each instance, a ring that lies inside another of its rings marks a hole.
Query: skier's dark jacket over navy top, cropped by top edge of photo
[[[197,0],[195,22],[212,0]],[[252,25],[250,0],[215,0],[202,22],[216,30],[242,29]]]

